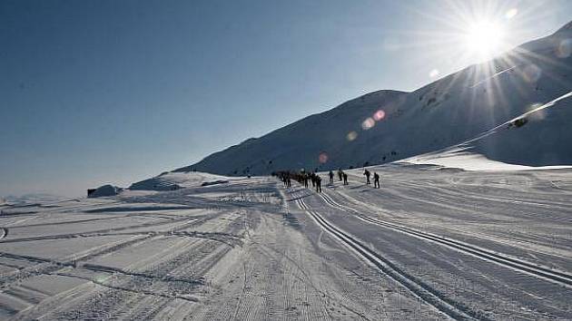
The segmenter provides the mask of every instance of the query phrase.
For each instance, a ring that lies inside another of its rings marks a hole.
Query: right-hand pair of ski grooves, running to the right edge
[[[391,229],[394,231],[398,231],[400,233],[407,234],[409,236],[415,238],[421,238],[424,240],[429,240],[431,242],[437,243],[442,246],[446,246],[448,248],[453,248],[458,250],[462,253],[468,254],[475,258],[480,258],[486,260],[491,263],[495,263],[499,266],[510,268],[512,270],[518,271],[520,273],[527,274],[532,277],[537,277],[552,283],[556,283],[560,286],[572,288],[572,275],[567,274],[562,271],[553,270],[550,268],[544,268],[538,266],[533,263],[529,263],[525,260],[518,259],[518,258],[510,258],[507,255],[499,254],[493,251],[490,251],[485,248],[478,248],[472,245],[469,245],[464,242],[460,242],[458,240],[452,238],[444,238],[438,235],[434,235],[427,232],[422,232],[416,229],[410,229],[404,226],[400,226],[398,224],[386,222],[380,219],[373,219],[370,217],[366,217],[361,214],[358,210],[352,209],[348,206],[341,205],[340,203],[336,202],[334,199],[331,199],[329,195],[326,194],[318,194],[320,195],[321,199],[323,199],[328,205],[339,208],[345,209],[346,211],[351,211],[357,215],[358,219],[361,219],[365,222],[370,224],[375,224],[380,227]]]

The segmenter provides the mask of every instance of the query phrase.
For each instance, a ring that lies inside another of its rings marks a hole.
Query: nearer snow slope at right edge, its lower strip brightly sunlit
[[[572,164],[572,92],[498,125],[477,138],[406,162],[464,170],[529,170]],[[518,165],[526,164],[526,166]]]

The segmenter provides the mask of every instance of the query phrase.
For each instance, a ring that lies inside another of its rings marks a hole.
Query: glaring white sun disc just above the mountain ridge
[[[505,33],[500,24],[482,20],[469,24],[465,42],[469,53],[485,60],[498,54],[502,48]]]

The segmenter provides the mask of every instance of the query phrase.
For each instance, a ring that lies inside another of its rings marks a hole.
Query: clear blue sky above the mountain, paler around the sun
[[[459,40],[471,19],[502,24],[497,53],[571,14],[567,0],[4,0],[0,195],[127,186],[476,63]]]

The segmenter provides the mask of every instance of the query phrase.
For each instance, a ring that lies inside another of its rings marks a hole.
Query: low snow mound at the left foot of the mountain
[[[168,171],[151,179],[133,183],[129,190],[179,190],[221,184],[228,181],[229,178],[227,177],[199,171]]]

